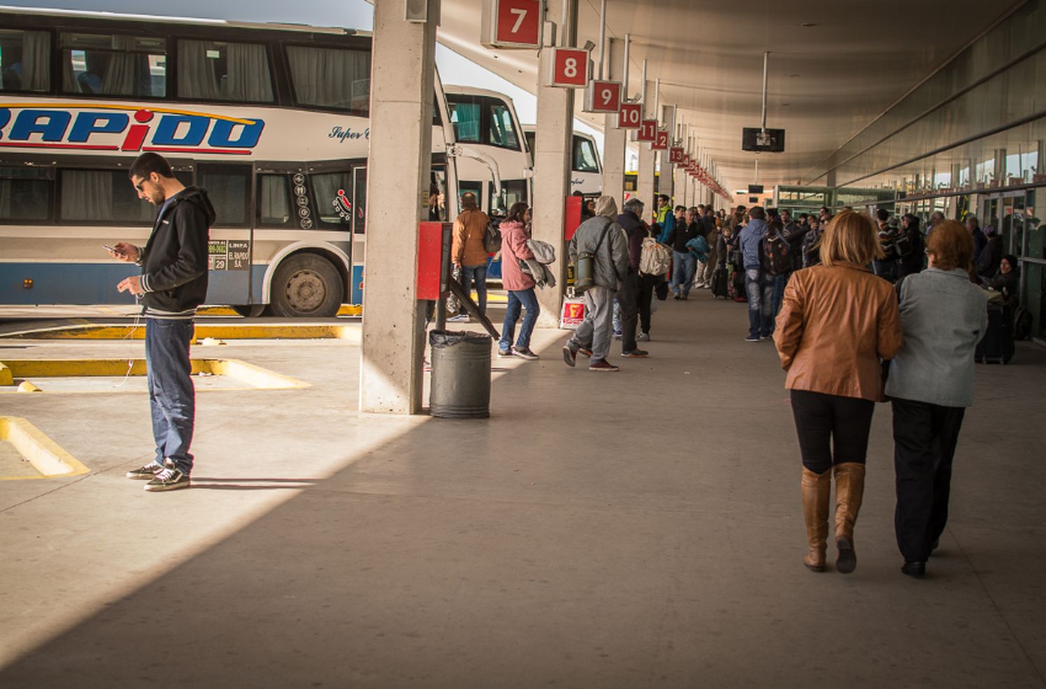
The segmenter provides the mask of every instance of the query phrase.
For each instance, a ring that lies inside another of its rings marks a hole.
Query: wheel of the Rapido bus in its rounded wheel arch
[[[315,254],[291,256],[276,269],[270,290],[270,311],[290,318],[337,316],[344,293],[341,274]]]

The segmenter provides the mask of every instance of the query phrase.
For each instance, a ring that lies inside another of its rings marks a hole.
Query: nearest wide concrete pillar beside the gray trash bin
[[[417,301],[417,225],[427,215],[439,0],[428,21],[403,2],[374,2],[367,164],[366,280],[360,411],[422,409],[425,308]]]

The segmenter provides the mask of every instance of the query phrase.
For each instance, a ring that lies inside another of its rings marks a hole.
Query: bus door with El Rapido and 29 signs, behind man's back
[[[249,164],[202,161],[197,163],[196,175],[215,214],[207,243],[207,303],[250,304],[254,170]]]

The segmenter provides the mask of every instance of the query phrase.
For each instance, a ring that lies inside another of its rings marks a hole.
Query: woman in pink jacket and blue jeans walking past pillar
[[[532,361],[538,354],[530,351],[530,334],[541,306],[538,296],[533,293],[533,279],[520,268],[520,259],[533,258],[533,253],[526,246],[530,238],[527,230],[530,224],[530,209],[523,202],[513,204],[508,209],[508,217],[501,221],[501,283],[508,291],[508,308],[505,311],[505,322],[501,326],[501,342],[498,343],[499,357],[519,357]],[[516,346],[511,346],[516,334],[516,322],[520,319],[520,308],[526,308],[520,337]]]

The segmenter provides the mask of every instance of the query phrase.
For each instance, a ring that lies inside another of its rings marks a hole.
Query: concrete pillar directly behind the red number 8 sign
[[[549,0],[546,17],[560,22],[564,3],[570,15],[569,26],[559,27],[560,45],[572,46],[577,38],[577,0]],[[570,193],[570,156],[574,123],[574,91],[544,86],[549,73],[551,50],[541,51],[538,69],[538,128],[533,144],[533,238],[547,242],[556,248],[554,288],[538,290],[541,304],[539,327],[559,327],[560,307],[567,283],[566,243],[563,227],[566,220],[565,203]],[[606,163],[605,163],[606,164]],[[622,184],[623,186],[623,184]]]

